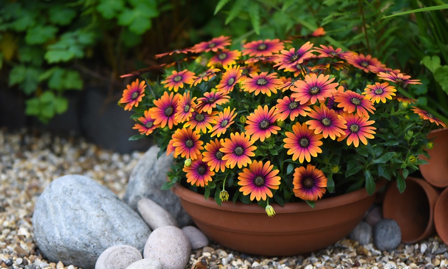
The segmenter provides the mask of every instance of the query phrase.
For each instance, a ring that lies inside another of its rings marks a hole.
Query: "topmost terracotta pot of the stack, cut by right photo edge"
[[[429,184],[448,187],[448,129],[430,131],[428,138],[434,138],[434,147],[427,150],[431,157],[429,160],[423,155],[419,157],[429,162],[419,165],[420,172]]]

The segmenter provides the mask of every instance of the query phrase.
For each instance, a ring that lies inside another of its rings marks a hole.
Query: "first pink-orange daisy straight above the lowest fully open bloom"
[[[275,107],[271,107],[268,111],[268,106],[258,106],[253,113],[247,116],[246,131],[248,136],[252,136],[252,140],[260,139],[261,142],[270,137],[271,134],[277,134],[280,127],[274,125],[279,118],[278,114],[274,113]]]

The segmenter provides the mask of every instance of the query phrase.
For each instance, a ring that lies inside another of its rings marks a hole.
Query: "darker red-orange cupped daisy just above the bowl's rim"
[[[294,170],[292,191],[296,197],[302,200],[317,201],[325,194],[327,183],[328,179],[325,178],[323,172],[316,166],[308,164],[306,168],[301,166]]]

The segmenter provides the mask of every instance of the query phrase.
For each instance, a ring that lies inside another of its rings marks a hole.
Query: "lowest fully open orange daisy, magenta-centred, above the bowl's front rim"
[[[271,189],[278,189],[280,177],[278,169],[273,169],[270,161],[263,164],[261,161],[253,161],[249,168],[244,168],[243,172],[238,174],[238,185],[241,187],[243,195],[250,194],[250,200],[253,199],[266,201],[267,197],[272,197]]]

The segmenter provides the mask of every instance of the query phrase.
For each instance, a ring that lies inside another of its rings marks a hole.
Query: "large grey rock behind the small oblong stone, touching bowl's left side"
[[[179,227],[192,224],[193,221],[182,208],[179,197],[171,190],[161,189],[167,180],[166,174],[173,164],[173,156],[164,153],[157,159],[158,152],[157,146],[150,147],[135,165],[123,200],[137,210],[137,203],[142,198],[151,199],[165,208],[176,219]]]

